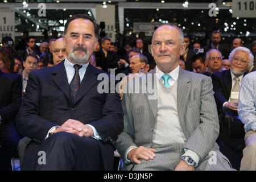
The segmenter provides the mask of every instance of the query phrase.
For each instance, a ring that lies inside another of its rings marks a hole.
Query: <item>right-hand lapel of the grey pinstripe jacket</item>
[[[185,74],[185,71],[180,68],[179,71],[179,77],[177,79],[177,112],[179,115],[179,121],[181,128],[183,129],[183,133],[185,134],[185,137],[187,136],[187,133],[185,132],[185,126],[184,126],[184,112],[185,108],[188,104],[188,97],[191,90],[191,82],[187,75]]]

